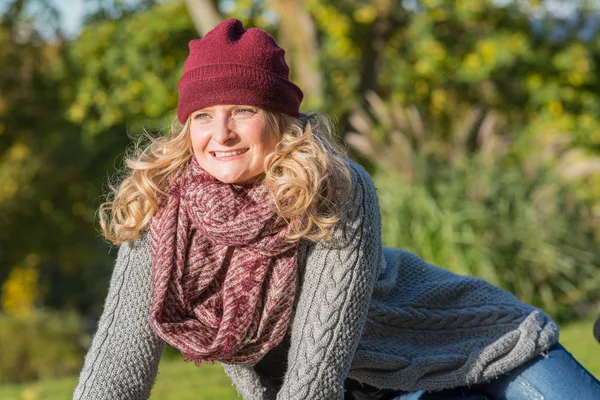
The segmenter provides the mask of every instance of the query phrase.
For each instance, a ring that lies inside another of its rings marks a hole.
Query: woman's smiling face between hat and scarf
[[[194,156],[206,172],[225,183],[251,181],[264,172],[265,158],[277,146],[264,110],[217,105],[190,118]]]

